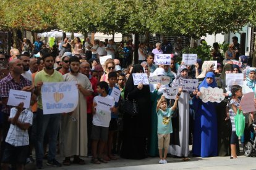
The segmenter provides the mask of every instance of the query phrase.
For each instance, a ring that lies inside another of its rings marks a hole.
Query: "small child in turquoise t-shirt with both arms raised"
[[[160,161],[159,163],[167,163],[166,156],[168,153],[169,142],[170,142],[170,133],[173,132],[173,126],[171,124],[171,115],[175,108],[177,107],[177,101],[179,99],[179,95],[176,96],[176,100],[174,102],[173,107],[167,108],[167,100],[164,98],[164,95],[158,100],[156,105],[156,113],[158,116],[158,149]],[[163,156],[163,148],[164,148],[164,156]]]

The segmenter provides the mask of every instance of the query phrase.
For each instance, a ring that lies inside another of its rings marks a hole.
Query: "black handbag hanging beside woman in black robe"
[[[138,105],[136,103],[136,100],[130,101],[128,99],[129,94],[127,95],[126,99],[121,100],[120,107],[122,113],[124,115],[129,115],[131,117],[138,115],[139,110],[138,110]]]

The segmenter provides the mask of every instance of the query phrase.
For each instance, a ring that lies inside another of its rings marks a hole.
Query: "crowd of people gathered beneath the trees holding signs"
[[[134,65],[132,41],[126,46],[120,42],[119,47],[113,39],[94,42],[66,38],[56,53],[43,47],[38,38],[34,49],[26,41],[21,54],[18,49],[11,49],[11,56],[0,54],[2,169],[8,169],[9,164],[23,169],[27,162],[35,162],[41,169],[44,159],[48,166],[55,167],[85,164],[81,156],[89,155],[93,164],[117,160],[116,155],[132,160],[159,156],[159,163],[168,163],[168,153],[184,161],[190,156],[237,158],[239,140],[234,116],[237,109],[242,110],[242,94],[255,93],[256,86],[256,68],[249,67],[247,56],[239,55],[237,41],[229,45],[225,56],[218,43],[213,44],[211,55],[218,61],[216,70],[212,63],[201,59],[195,65],[178,64],[181,38],[174,46],[166,40],[163,44],[157,42],[155,48],[153,44],[140,43],[139,63]],[[170,65],[155,65],[156,54],[172,53]],[[105,55],[112,59],[101,65],[100,57]],[[238,59],[242,65],[235,65],[231,59]],[[171,81],[167,85],[134,85],[134,73],[168,76]],[[243,86],[226,86],[229,73],[243,73]],[[183,79],[198,79],[200,84],[194,91],[185,91]],[[77,107],[69,113],[44,114],[41,87],[44,83],[65,81],[77,82]],[[179,89],[176,99],[164,97],[166,87]],[[202,87],[223,89],[224,100],[202,102]],[[7,104],[11,89],[32,93],[29,109],[23,108],[24,103],[16,107]],[[121,91],[119,101],[111,96],[113,89]],[[110,110],[97,107],[102,97],[113,101]],[[126,100],[136,103],[136,115],[123,113],[122,103]],[[242,144],[254,138],[251,124],[256,123],[254,112],[244,116]],[[64,158],[62,163],[56,160],[58,153]]]

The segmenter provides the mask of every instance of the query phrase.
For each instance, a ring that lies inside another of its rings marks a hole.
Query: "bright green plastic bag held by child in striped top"
[[[238,137],[244,134],[245,128],[245,117],[242,114],[242,110],[237,109],[237,113],[235,116],[235,125],[236,125],[236,135]]]

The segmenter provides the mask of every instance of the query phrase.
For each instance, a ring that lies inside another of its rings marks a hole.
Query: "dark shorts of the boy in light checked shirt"
[[[14,147],[8,143],[4,148],[2,163],[25,164],[29,152],[29,145]]]

